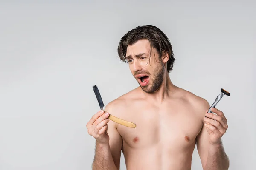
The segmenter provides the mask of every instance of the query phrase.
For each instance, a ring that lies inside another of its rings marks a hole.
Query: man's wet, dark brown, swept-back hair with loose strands
[[[123,62],[127,63],[127,60],[125,58],[127,46],[133,45],[138,40],[142,39],[147,39],[150,42],[150,46],[153,46],[157,50],[160,57],[169,54],[169,60],[167,62],[167,72],[172,71],[175,58],[172,51],[171,42],[166,34],[163,33],[163,31],[152,25],[137,26],[131,31],[128,31],[121,38],[117,49],[120,59]]]

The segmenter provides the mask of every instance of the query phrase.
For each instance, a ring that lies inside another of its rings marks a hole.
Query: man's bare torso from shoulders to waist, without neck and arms
[[[135,90],[118,99],[114,116],[137,125],[116,124],[127,170],[191,168],[196,136],[203,126],[203,114],[198,113],[201,99],[180,88],[170,96],[159,104]]]

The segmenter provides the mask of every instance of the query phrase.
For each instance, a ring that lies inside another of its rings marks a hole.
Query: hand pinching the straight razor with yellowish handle
[[[89,120],[86,127],[89,135],[93,136],[97,142],[106,144],[109,142],[108,119],[109,113],[99,111]]]

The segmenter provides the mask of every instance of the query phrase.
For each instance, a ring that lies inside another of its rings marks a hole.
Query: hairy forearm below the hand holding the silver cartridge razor
[[[221,144],[209,144],[207,164],[204,170],[227,170],[229,168],[229,159]]]

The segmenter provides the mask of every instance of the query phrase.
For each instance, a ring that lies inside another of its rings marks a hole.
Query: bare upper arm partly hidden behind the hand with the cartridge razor
[[[208,149],[209,149],[209,134],[207,132],[206,127],[204,126],[204,117],[207,109],[209,109],[210,105],[209,103],[203,99],[203,102],[201,102],[201,107],[199,110],[199,116],[200,119],[202,120],[203,126],[196,137],[196,142],[197,142],[197,150],[199,157],[201,159],[202,166],[205,167],[206,162],[207,162],[207,157],[208,157]]]

